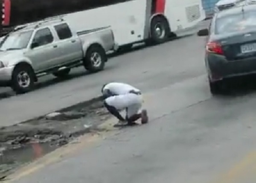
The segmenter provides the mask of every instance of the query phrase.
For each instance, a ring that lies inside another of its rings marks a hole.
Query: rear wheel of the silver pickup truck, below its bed
[[[96,73],[104,69],[107,59],[106,52],[102,46],[94,44],[87,50],[84,58],[84,68],[91,73]]]

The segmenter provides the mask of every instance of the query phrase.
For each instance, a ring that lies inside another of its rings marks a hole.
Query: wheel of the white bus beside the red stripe
[[[150,26],[151,41],[154,44],[160,44],[167,41],[170,35],[168,22],[164,17],[154,17]]]

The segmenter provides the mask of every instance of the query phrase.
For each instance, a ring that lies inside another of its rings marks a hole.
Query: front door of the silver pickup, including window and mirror
[[[49,28],[38,29],[35,32],[26,56],[32,61],[36,73],[59,63],[61,52]]]

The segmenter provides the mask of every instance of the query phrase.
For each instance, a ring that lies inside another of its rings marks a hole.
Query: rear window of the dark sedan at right
[[[256,10],[220,17],[215,21],[215,34],[256,29]]]

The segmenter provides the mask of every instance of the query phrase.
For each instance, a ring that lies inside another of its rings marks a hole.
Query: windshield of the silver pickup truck
[[[13,32],[7,35],[0,43],[0,51],[26,48],[32,33],[33,31]]]

